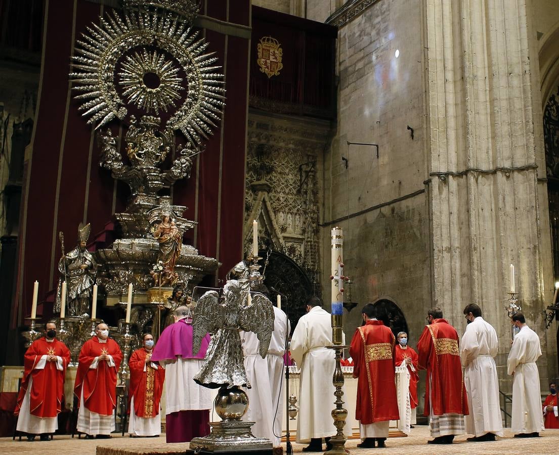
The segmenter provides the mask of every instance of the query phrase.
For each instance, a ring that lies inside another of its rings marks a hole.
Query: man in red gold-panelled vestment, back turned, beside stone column
[[[468,400],[462,377],[462,363],[456,329],[434,307],[427,312],[427,323],[417,346],[419,368],[427,369],[425,415],[430,415],[429,444],[452,444],[454,435],[464,434]]]

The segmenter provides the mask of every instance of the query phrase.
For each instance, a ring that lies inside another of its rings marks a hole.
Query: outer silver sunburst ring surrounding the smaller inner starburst
[[[221,67],[213,65],[217,58],[214,53],[204,53],[208,44],[203,38],[197,39],[197,35],[170,13],[160,16],[152,11],[125,11],[123,17],[116,12],[102,17],[99,25],[88,27],[83,39],[77,41],[77,55],[72,57],[74,72],[70,79],[74,90],[82,92],[75,98],[85,100],[80,106],[82,115],[89,117],[88,123],[96,125],[96,129],[115,118],[124,119],[127,103],[135,102],[123,101],[117,91],[117,63],[133,50],[167,53],[186,74],[181,80],[186,96],[181,97],[181,105],[176,103],[174,112],[169,109],[172,115],[165,129],[181,130],[193,145],[201,145],[221,120],[225,82],[224,75],[219,73]]]

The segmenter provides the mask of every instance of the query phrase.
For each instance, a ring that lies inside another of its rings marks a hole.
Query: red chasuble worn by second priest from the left
[[[97,368],[89,368],[96,357],[106,353],[112,356],[115,366],[111,367],[106,360],[100,360]],[[100,343],[97,336],[87,340],[79,352],[78,372],[75,377],[74,394],[78,401],[82,396],[83,404],[92,413],[111,415],[116,407],[116,373],[122,361],[122,353],[115,340],[107,338]]]

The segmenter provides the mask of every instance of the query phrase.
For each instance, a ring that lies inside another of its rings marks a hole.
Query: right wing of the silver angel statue
[[[247,332],[254,332],[260,342],[260,356],[266,357],[274,330],[274,309],[272,302],[263,294],[251,295],[252,305],[239,311],[239,326]]]

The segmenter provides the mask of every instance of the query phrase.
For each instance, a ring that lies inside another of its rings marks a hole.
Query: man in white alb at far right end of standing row
[[[542,355],[539,336],[526,325],[520,312],[512,318],[520,329],[510,348],[508,371],[513,375],[513,417],[515,438],[537,438],[543,430],[542,399],[536,361]]]

